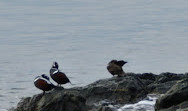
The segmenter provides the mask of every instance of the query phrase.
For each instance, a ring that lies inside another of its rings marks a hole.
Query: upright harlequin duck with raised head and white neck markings
[[[50,76],[55,82],[57,82],[57,86],[61,86],[61,84],[71,83],[69,78],[65,75],[65,73],[59,71],[58,68],[58,63],[53,62],[52,67],[50,69]]]

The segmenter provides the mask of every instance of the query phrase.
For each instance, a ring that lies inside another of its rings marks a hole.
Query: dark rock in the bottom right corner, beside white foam
[[[161,96],[155,105],[157,111],[160,110],[177,110],[181,108],[188,108],[184,102],[188,101],[188,78],[177,81],[167,93]]]

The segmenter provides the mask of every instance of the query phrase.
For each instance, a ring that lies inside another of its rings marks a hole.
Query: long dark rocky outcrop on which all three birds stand
[[[56,87],[45,95],[22,99],[14,111],[113,111],[109,105],[135,103],[148,93],[165,93],[185,74],[127,73],[98,80],[84,87]]]

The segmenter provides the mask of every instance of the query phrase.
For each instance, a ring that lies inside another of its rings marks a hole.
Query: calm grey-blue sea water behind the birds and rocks
[[[187,72],[187,4],[0,0],[0,111],[41,93],[33,79],[49,74],[53,61],[76,84],[65,88],[112,77],[106,70],[112,59],[128,61],[126,72]]]

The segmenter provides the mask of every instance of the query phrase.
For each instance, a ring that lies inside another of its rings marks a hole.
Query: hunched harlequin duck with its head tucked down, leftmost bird
[[[50,82],[50,78],[46,74],[42,74],[41,76],[37,76],[34,79],[34,85],[43,91],[43,95],[45,91],[52,90],[55,86]]]

